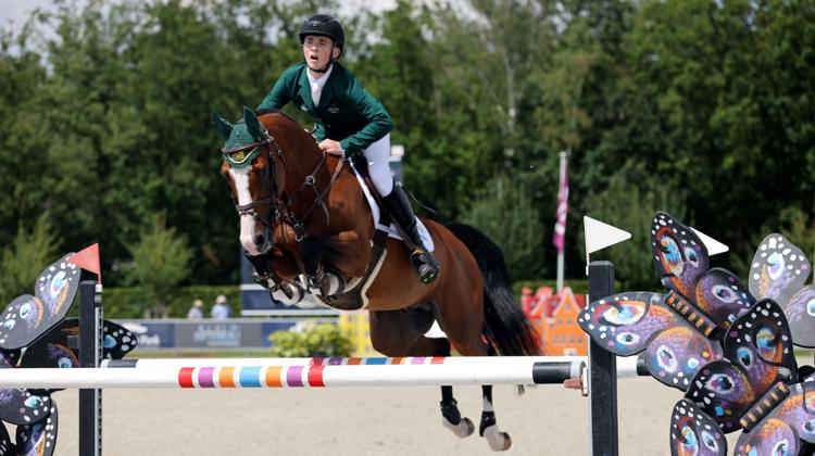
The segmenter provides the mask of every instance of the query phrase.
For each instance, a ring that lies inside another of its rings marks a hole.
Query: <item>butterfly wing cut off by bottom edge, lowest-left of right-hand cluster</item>
[[[682,398],[670,414],[670,454],[725,456],[727,440],[713,418]]]

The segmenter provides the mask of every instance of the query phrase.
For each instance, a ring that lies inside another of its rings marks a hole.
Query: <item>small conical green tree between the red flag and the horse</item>
[[[138,284],[153,301],[153,317],[166,317],[167,299],[190,274],[192,251],[186,237],[177,236],[175,228],[166,228],[163,217],[155,217],[128,250],[133,255],[133,263],[125,270],[128,281]]]

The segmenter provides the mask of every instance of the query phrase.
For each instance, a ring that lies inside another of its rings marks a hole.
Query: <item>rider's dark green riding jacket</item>
[[[385,106],[339,63],[334,62],[317,106],[311,98],[306,72],[305,62],[286,69],[258,110],[279,110],[293,103],[314,118],[317,140],[339,141],[346,156],[364,151],[393,128]]]

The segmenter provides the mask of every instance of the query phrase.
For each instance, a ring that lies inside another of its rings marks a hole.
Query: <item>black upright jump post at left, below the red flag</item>
[[[102,286],[79,283],[79,366],[96,368],[102,359]],[[102,390],[79,390],[79,456],[102,454]]]

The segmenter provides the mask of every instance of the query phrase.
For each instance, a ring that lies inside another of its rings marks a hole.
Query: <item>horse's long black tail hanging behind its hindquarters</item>
[[[485,233],[464,224],[447,228],[469,249],[484,279],[482,333],[498,354],[505,356],[539,355],[540,341],[510,288],[510,275],[501,248]]]

